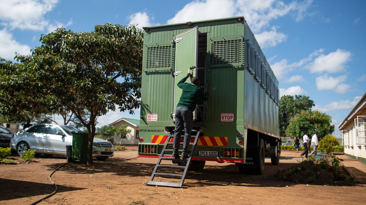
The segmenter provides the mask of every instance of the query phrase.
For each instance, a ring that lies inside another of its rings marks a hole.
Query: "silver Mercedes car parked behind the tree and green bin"
[[[73,131],[81,131],[68,125],[37,124],[14,133],[10,146],[21,156],[25,150],[36,150],[37,154],[66,155],[66,145],[72,145]],[[113,144],[102,139],[93,140],[93,157],[106,160],[113,156]]]

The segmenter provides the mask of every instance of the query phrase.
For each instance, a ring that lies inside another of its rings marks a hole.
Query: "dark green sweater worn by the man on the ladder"
[[[197,85],[186,83],[186,77],[178,82],[178,87],[182,88],[182,96],[180,96],[177,107],[184,107],[194,111],[196,109],[198,98],[202,100],[207,100],[208,97],[205,96],[201,88]]]

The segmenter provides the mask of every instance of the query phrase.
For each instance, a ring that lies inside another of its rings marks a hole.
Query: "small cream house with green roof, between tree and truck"
[[[115,144],[123,144],[123,145],[137,145],[139,139],[139,125],[140,120],[130,119],[122,117],[121,119],[109,124],[109,126],[114,125],[116,129],[119,129],[122,125],[126,125],[127,129],[130,129],[131,132],[127,135],[119,135],[115,137]]]

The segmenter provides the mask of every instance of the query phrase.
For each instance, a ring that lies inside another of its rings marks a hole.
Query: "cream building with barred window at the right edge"
[[[344,154],[366,164],[366,93],[339,126]]]

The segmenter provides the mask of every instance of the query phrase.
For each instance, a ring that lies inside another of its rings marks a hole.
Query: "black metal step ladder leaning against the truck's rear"
[[[188,150],[188,153],[189,153],[189,158],[185,159],[185,158],[174,158],[172,156],[165,156],[166,152],[169,152],[169,153],[172,153],[173,150],[171,149],[167,149],[167,146],[168,145],[173,145],[172,142],[170,142],[170,139],[173,139],[174,138],[174,132],[170,132],[169,134],[169,137],[167,139],[167,142],[165,143],[164,145],[164,148],[163,148],[163,151],[161,151],[161,154],[160,154],[160,157],[156,163],[156,166],[154,168],[154,171],[150,177],[150,180],[149,182],[147,182],[147,185],[150,185],[150,186],[168,186],[168,187],[182,187],[183,185],[183,182],[184,182],[184,179],[186,178],[186,175],[187,175],[187,171],[189,169],[189,166],[191,165],[191,160],[192,160],[192,154],[194,153],[194,149],[196,147],[196,144],[197,144],[197,140],[199,138],[199,131],[197,130],[192,130],[192,132],[197,132],[196,136],[191,136],[191,139],[194,138],[194,142],[193,143],[189,143],[189,145],[192,145],[192,149],[189,151]],[[184,136],[181,136],[181,138],[183,137],[184,139]],[[180,146],[183,146],[183,143],[180,143]],[[178,150],[178,153],[180,153],[180,155],[182,154],[182,150]],[[187,154],[188,154],[187,153]],[[171,155],[171,154],[169,154]],[[172,160],[173,163],[178,163],[178,165],[162,165],[160,164],[161,163],[161,160]],[[185,166],[182,166],[182,165],[185,165]],[[163,172],[157,172],[157,170],[159,170],[159,168],[172,168],[170,169],[169,173],[163,173]],[[176,171],[176,170],[183,170],[183,173],[182,174],[173,174],[171,173],[172,171]],[[179,183],[175,183],[175,182],[163,182],[163,181],[154,181],[154,177],[171,177],[171,178],[180,178],[180,182]]]

